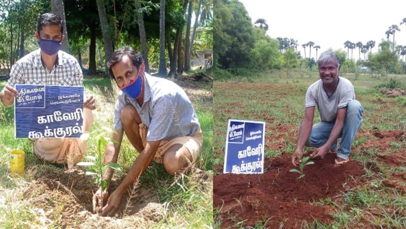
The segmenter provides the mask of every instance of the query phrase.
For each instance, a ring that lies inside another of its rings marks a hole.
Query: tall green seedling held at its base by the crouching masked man
[[[106,169],[110,167],[114,170],[121,171],[120,166],[116,163],[109,162],[105,165],[103,162],[103,152],[108,142],[117,143],[117,141],[114,139],[100,136],[97,141],[96,154],[94,156],[88,155],[85,157],[90,161],[82,161],[77,164],[78,166],[92,166],[92,168],[86,170],[85,175],[95,175],[90,182],[101,188],[102,192],[106,189],[107,185],[109,185],[109,181],[102,179]],[[101,206],[103,206],[103,200],[101,200]]]

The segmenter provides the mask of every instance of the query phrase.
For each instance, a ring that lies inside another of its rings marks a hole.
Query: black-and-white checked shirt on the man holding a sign
[[[30,52],[13,65],[7,85],[12,87],[15,84],[83,86],[82,70],[73,56],[59,51],[50,72],[42,62],[40,50]]]

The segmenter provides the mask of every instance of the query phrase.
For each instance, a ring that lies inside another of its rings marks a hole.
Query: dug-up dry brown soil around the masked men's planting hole
[[[155,191],[145,187],[137,187],[131,198],[129,192],[124,194],[115,217],[94,214],[92,197],[98,187],[90,183],[91,176],[85,176],[76,167],[65,172],[40,167],[30,169],[35,181],[24,192],[24,198],[31,202],[44,224],[54,223],[62,228],[94,228],[96,225],[103,228],[148,228],[163,217],[163,207],[158,203]],[[120,180],[112,180],[109,193],[119,184]]]

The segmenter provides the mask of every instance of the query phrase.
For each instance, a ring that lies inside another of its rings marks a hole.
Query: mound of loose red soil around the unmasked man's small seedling
[[[324,159],[314,159],[314,165],[304,168],[303,179],[289,172],[293,166],[288,154],[265,159],[264,174],[214,176],[213,204],[221,212],[221,227],[232,226],[235,220],[246,220],[245,226],[254,226],[271,217],[266,224],[270,228],[279,227],[282,221],[286,228],[300,227],[303,220],[310,223],[314,218],[330,222],[331,207],[311,202],[335,198],[365,174],[356,161],[333,167],[334,158],[328,154]]]

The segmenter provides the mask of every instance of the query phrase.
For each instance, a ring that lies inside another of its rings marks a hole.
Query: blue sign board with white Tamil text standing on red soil
[[[224,173],[263,173],[265,122],[228,120]]]

